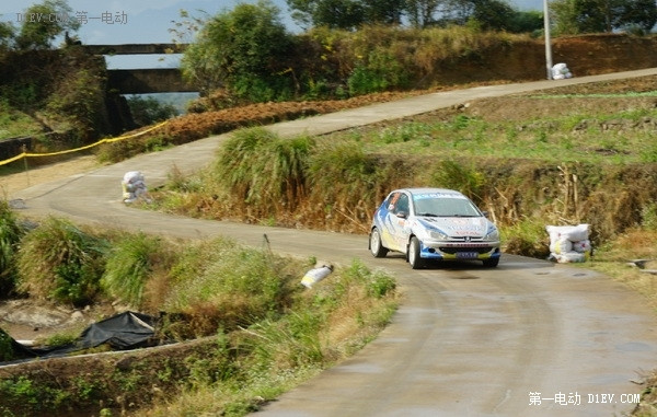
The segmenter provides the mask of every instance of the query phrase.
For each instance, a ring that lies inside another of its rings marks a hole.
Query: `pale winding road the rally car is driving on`
[[[283,136],[324,134],[469,100],[639,77],[657,69],[435,93],[274,125]],[[138,228],[183,238],[218,234],[335,263],[360,258],[394,274],[403,302],[392,324],[349,360],[280,396],[265,416],[612,416],[632,410],[641,372],[655,368],[655,315],[639,296],[596,273],[503,255],[480,264],[411,270],[400,256],[374,259],[367,238],[145,212],[120,202],[127,171],[149,185],[175,165],[208,163],[227,136],[140,155],[15,193],[26,216]]]

